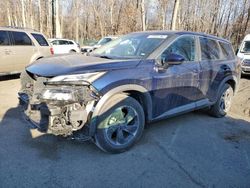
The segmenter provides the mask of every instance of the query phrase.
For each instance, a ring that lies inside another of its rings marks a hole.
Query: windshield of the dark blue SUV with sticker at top
[[[111,59],[147,58],[167,38],[167,35],[135,33],[125,35],[93,52],[93,56]]]

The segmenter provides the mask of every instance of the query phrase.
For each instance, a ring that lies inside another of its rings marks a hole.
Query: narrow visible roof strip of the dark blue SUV
[[[154,35],[196,35],[196,36],[201,36],[201,37],[208,37],[214,40],[220,40],[223,42],[231,43],[229,40],[209,35],[206,33],[201,33],[201,32],[192,32],[192,31],[141,31],[141,32],[134,32],[134,33],[144,33],[144,34],[154,34]]]

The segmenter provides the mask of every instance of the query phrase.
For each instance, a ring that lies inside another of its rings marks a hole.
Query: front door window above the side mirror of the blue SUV
[[[191,36],[185,36],[177,39],[171,44],[162,54],[163,57],[170,54],[178,54],[184,57],[185,61],[195,60],[195,38]]]

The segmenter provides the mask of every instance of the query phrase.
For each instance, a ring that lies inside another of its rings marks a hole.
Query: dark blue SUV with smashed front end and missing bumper
[[[193,32],[128,34],[88,56],[43,58],[21,74],[20,104],[40,131],[130,148],[146,122],[201,108],[223,117],[240,63],[229,41]]]

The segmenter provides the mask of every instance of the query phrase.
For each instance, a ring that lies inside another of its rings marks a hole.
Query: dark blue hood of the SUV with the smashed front
[[[112,60],[93,56],[60,55],[42,58],[26,67],[32,74],[42,77],[54,77],[85,72],[108,71],[134,68],[140,60]]]

